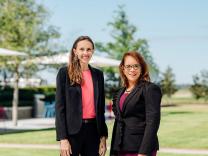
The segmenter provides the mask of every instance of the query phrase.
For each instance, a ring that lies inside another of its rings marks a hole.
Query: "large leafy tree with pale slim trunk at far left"
[[[56,27],[46,24],[49,14],[41,4],[35,0],[0,0],[0,10],[0,47],[25,52],[28,59],[57,49],[54,43],[60,34]],[[12,118],[17,125],[19,78],[34,74],[38,68],[31,63],[22,64],[21,57],[0,59],[1,68],[13,73],[15,79]]]

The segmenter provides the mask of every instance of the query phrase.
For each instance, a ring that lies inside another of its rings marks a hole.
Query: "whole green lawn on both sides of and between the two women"
[[[160,147],[208,149],[207,121],[208,105],[162,107],[159,130]],[[113,121],[108,121],[107,124],[109,128],[108,146],[110,146]],[[55,141],[55,130],[49,129],[2,134],[0,143],[56,144],[57,142]],[[0,149],[0,153],[2,150],[4,149]]]

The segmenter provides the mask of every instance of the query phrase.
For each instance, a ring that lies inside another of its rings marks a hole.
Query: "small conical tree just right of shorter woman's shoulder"
[[[161,89],[164,95],[171,98],[172,94],[177,91],[175,85],[175,75],[172,72],[172,68],[168,67],[164,73],[162,73],[162,79],[160,82]]]

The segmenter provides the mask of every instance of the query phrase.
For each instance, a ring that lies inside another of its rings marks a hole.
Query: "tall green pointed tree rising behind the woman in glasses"
[[[139,51],[143,55],[145,60],[148,62],[152,76],[156,77],[158,75],[159,70],[153,61],[153,58],[149,51],[148,43],[145,39],[135,37],[137,33],[137,27],[130,24],[126,12],[124,10],[124,6],[118,6],[118,10],[115,11],[114,20],[112,22],[109,22],[108,26],[112,28],[112,31],[110,33],[112,41],[107,43],[96,42],[96,48],[100,52],[107,52],[112,58],[119,60],[121,60],[123,54],[127,51]],[[116,82],[112,83],[112,80]],[[114,90],[118,88],[118,81],[118,70],[107,69],[107,90],[114,92]],[[112,93],[108,94],[112,95]]]

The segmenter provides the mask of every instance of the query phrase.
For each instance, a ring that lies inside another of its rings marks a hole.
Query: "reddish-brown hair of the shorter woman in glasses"
[[[123,71],[124,70],[124,65],[125,65],[125,58],[127,56],[131,56],[134,59],[136,59],[137,62],[139,63],[139,65],[140,65],[140,67],[141,67],[141,74],[140,74],[140,76],[138,78],[138,81],[139,80],[150,81],[148,65],[145,62],[145,60],[142,57],[142,55],[139,52],[137,52],[137,51],[129,51],[129,52],[126,52],[123,55],[122,60],[121,60],[121,63],[119,65],[119,72],[120,72],[120,75],[121,75],[122,85],[124,87],[128,87],[129,86],[128,79],[126,78],[126,76],[124,74],[124,71]]]

